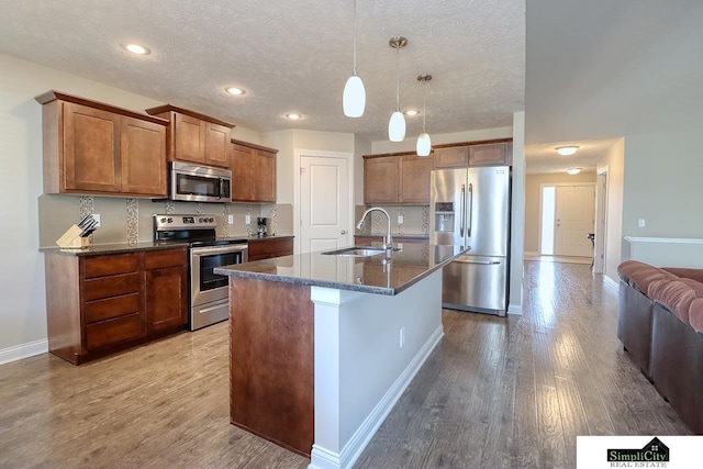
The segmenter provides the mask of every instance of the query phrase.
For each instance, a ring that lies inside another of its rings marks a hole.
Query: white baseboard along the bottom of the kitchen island
[[[443,336],[444,328],[439,325],[439,327],[432,333],[429,338],[427,338],[420,350],[417,350],[417,354],[415,354],[403,372],[398,377],[395,382],[393,382],[393,386],[391,386],[383,398],[381,398],[379,403],[376,404],[371,413],[364,420],[364,422],[361,422],[361,425],[359,425],[354,435],[352,435],[352,438],[349,438],[349,442],[344,446],[342,453],[337,454],[317,445],[313,445],[308,469],[346,469],[354,466]]]

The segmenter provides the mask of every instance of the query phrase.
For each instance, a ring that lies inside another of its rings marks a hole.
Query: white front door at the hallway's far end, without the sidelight
[[[593,255],[593,245],[585,237],[593,233],[595,221],[595,187],[557,186],[554,254],[555,256]]]

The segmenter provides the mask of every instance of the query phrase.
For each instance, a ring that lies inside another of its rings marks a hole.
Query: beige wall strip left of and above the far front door
[[[595,171],[583,171],[578,175],[540,174],[525,177],[525,252],[539,253],[539,200],[543,185],[562,186],[573,182],[595,183]]]

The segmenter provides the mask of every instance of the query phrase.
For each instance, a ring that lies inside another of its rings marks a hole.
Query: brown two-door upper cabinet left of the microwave
[[[166,197],[168,121],[57,91],[36,100],[44,192]]]

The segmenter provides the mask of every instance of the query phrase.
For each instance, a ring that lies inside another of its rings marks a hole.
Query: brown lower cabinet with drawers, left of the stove
[[[45,255],[48,346],[75,364],[182,331],[186,248]]]

